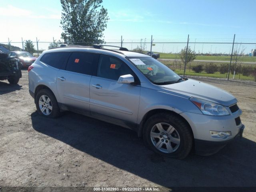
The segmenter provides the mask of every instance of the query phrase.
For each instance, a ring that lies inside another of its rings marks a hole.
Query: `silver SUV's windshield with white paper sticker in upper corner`
[[[129,60],[154,84],[172,84],[181,78],[152,57],[129,57]]]

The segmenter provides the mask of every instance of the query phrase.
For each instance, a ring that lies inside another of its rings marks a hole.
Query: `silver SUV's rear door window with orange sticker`
[[[73,52],[68,59],[66,71],[92,75],[96,54],[89,52]]]

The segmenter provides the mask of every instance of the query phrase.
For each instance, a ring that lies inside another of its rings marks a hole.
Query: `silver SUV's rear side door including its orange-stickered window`
[[[82,110],[90,114],[90,80],[98,54],[90,52],[72,52],[65,70],[59,70],[57,75],[57,90],[62,104],[70,110]]]

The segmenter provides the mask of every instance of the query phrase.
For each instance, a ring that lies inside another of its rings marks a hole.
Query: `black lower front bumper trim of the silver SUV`
[[[240,128],[238,134],[234,138],[225,141],[206,141],[195,139],[195,152],[198,155],[208,156],[221,150],[226,144],[236,140],[238,137],[242,138],[244,125]]]

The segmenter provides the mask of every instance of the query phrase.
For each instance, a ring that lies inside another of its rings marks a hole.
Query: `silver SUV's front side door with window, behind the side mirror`
[[[120,76],[131,74],[137,84],[122,84]],[[96,76],[90,82],[90,110],[97,118],[122,125],[136,124],[140,100],[140,83],[122,60],[101,55]]]

